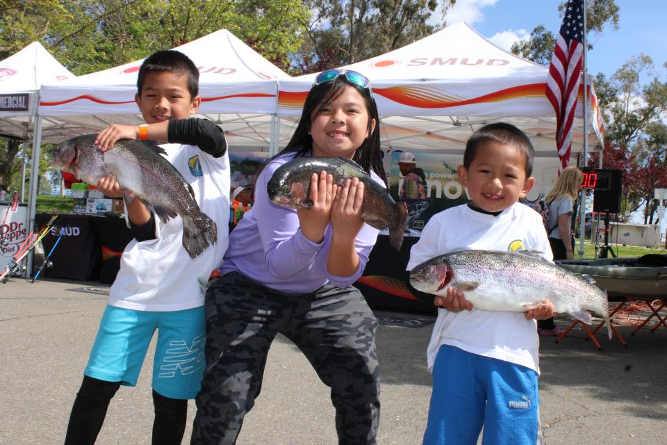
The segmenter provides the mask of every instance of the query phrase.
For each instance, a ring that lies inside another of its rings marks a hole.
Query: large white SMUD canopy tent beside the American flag
[[[370,79],[384,148],[437,149],[460,163],[472,132],[487,123],[509,122],[525,131],[536,149],[537,186],[529,197],[547,191],[556,179],[556,119],[544,94],[548,68],[496,47],[468,24],[452,24],[405,47],[343,68]],[[294,126],[314,79],[315,74],[308,74],[280,81],[278,114],[283,129],[279,144],[290,136],[285,127]],[[601,147],[593,88],[588,97],[593,109],[588,144]],[[582,88],[572,161],[583,146],[583,111]]]

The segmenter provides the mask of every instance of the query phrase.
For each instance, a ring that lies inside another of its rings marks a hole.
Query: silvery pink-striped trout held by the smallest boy
[[[525,312],[547,299],[554,312],[567,312],[590,325],[593,320],[588,309],[604,318],[611,339],[607,293],[536,252],[451,252],[415,266],[410,284],[436,296],[446,296],[452,286],[463,291],[473,307],[486,311]]]

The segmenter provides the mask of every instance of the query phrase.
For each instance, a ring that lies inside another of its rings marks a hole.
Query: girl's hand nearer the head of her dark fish
[[[331,203],[334,202],[336,186],[334,177],[327,175],[327,172],[320,172],[320,175],[313,173],[311,176],[311,193],[308,196],[313,202],[310,209],[297,209],[299,216],[299,225],[301,232],[313,241],[321,243],[324,238],[324,230],[327,229],[331,220]]]

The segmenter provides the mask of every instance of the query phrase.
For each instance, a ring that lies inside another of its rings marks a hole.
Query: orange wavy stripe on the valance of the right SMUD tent
[[[545,97],[545,83],[531,83],[512,88],[505,88],[472,99],[465,99],[458,95],[434,86],[406,85],[389,88],[373,88],[376,95],[386,97],[397,104],[414,108],[450,108],[470,104],[484,104],[488,102],[502,102],[525,97]],[[302,108],[308,92],[280,91],[278,106],[280,108]],[[579,100],[582,100],[583,88],[579,88]]]

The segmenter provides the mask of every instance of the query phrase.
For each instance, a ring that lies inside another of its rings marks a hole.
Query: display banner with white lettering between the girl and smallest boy
[[[404,176],[399,161],[403,150],[394,149],[389,170],[389,193],[396,201],[408,206],[406,230],[418,236],[431,216],[439,211],[468,202],[466,191],[456,175],[456,167],[463,162],[461,154],[446,152],[411,151],[415,168],[421,169],[426,180],[426,199],[412,199],[400,196]],[[404,159],[403,159],[404,160]]]

